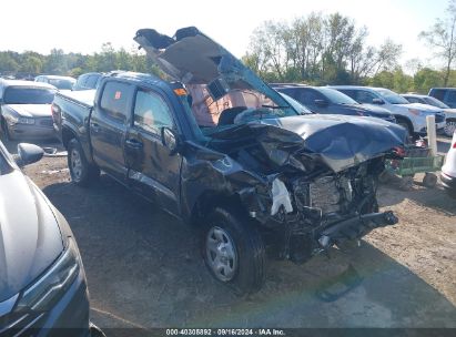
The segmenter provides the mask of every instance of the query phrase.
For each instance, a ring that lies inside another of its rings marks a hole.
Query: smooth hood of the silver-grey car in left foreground
[[[42,192],[20,171],[0,175],[0,303],[36,279],[63,251]]]

